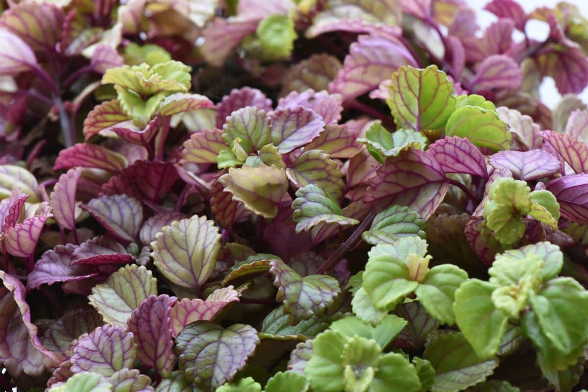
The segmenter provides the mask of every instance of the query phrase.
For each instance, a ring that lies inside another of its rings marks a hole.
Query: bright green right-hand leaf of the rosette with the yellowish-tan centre
[[[452,264],[433,267],[416,288],[420,303],[443,324],[454,324],[453,295],[467,279],[467,272]]]

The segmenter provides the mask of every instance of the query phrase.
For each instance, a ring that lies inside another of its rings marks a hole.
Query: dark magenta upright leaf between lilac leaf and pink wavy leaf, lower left
[[[176,357],[173,354],[170,314],[176,297],[149,296],[133,310],[127,321],[138,345],[137,357],[146,366],[169,377]]]

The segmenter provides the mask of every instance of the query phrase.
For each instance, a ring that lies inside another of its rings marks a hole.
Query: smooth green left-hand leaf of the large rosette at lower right
[[[453,303],[457,326],[483,358],[496,354],[508,322],[507,314],[492,301],[495,289],[492,283],[470,279],[457,289]]]

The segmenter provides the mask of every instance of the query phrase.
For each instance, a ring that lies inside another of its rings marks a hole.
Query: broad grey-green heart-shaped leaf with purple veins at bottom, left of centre
[[[213,389],[230,380],[258,344],[257,331],[251,326],[233,324],[223,328],[210,321],[196,321],[179,334],[175,353],[188,380],[198,387]],[[216,354],[211,359],[213,351]]]

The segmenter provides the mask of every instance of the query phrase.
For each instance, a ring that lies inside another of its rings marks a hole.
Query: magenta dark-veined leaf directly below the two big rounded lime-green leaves
[[[445,173],[463,173],[488,178],[484,156],[468,139],[447,136],[430,145],[427,153],[439,162]]]

